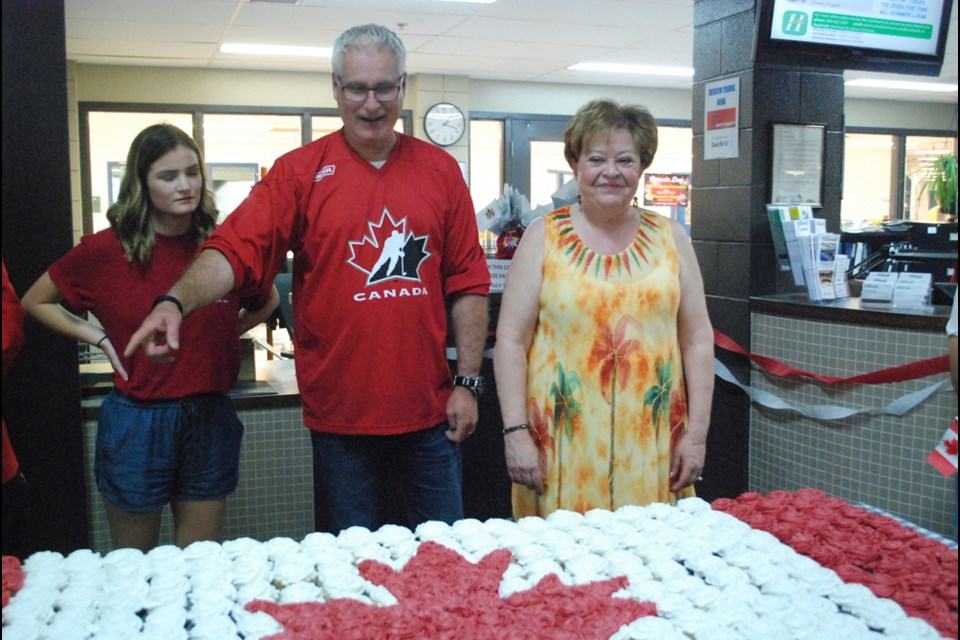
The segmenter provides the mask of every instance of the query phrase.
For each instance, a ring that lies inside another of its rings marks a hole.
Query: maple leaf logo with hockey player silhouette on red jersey
[[[430,257],[427,236],[407,231],[407,219],[394,221],[384,208],[380,222],[368,223],[369,233],[350,242],[347,264],[367,274],[367,285],[387,280],[420,281],[420,265]]]

